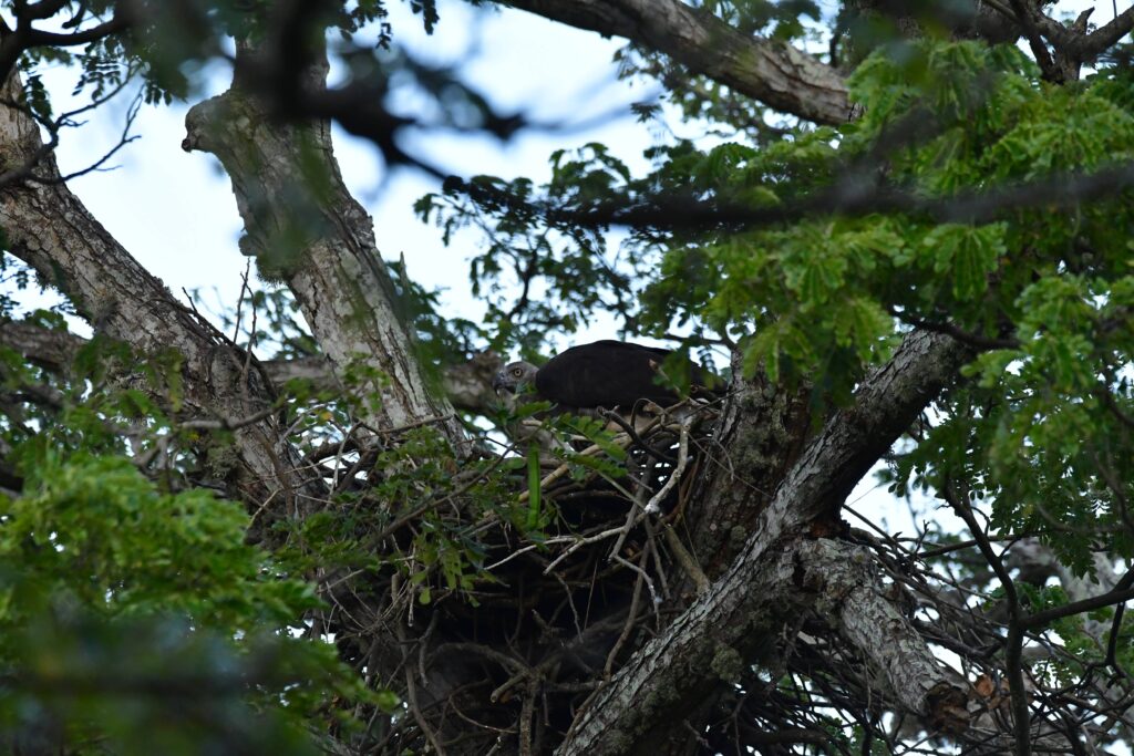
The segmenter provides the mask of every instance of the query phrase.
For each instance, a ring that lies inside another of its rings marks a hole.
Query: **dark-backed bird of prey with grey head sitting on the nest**
[[[642,400],[666,407],[682,398],[666,380],[670,354],[625,341],[594,341],[556,355],[543,367],[509,363],[497,373],[492,388],[498,394],[506,390],[550,401],[556,411],[576,415],[599,408],[631,411]],[[706,393],[709,375],[692,363],[687,367],[691,393]]]

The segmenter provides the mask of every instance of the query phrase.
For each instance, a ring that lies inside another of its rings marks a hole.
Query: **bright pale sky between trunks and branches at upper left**
[[[611,62],[621,45],[595,34],[573,29],[515,10],[477,16],[462,2],[441,5],[441,23],[433,37],[421,31],[401,3],[391,3],[396,39],[409,42],[422,56],[438,61],[467,58],[466,79],[484,87],[501,110],[519,109],[541,121],[584,120],[650,95],[652,87],[617,82]],[[480,22],[474,22],[475,18]],[[65,100],[74,83],[70,71],[48,77],[49,86]],[[218,67],[211,84],[228,86]],[[126,99],[90,117],[82,129],[65,133],[58,150],[64,172],[78,170],[117,141]],[[57,105],[57,110],[65,105]],[[71,189],[94,215],[152,273],[176,295],[181,288],[210,289],[235,303],[245,257],[237,239],[242,222],[228,177],[204,153],[180,148],[187,105],[143,108],[135,133],[141,139],[119,152],[115,170],[79,177]],[[523,133],[501,144],[490,137],[434,134],[407,141],[433,164],[457,175],[492,173],[507,178],[549,176],[548,156],[555,150],[600,141],[624,160],[644,168],[642,151],[653,142],[657,126],[632,117],[599,128],[567,134]],[[687,134],[691,134],[686,130]],[[692,134],[691,134],[692,135]],[[445,304],[451,314],[479,320],[480,305],[468,294],[468,257],[479,238],[460,235],[451,248],[440,232],[423,224],[412,205],[437,190],[431,177],[412,169],[387,176],[376,148],[369,142],[335,130],[336,153],[344,179],[374,218],[379,249],[386,257],[405,254],[409,274],[431,287],[446,287]],[[607,324],[593,338],[613,335]]]

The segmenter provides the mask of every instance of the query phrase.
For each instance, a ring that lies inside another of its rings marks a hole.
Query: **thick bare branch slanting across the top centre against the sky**
[[[506,5],[663,52],[695,74],[818,124],[843,124],[843,76],[788,44],[739,32],[679,0],[505,0]]]

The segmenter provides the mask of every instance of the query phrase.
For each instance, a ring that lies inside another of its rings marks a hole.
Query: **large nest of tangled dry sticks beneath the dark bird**
[[[407,500],[376,536],[371,528],[381,567],[323,576],[332,609],[315,630],[333,630],[344,656],[407,706],[388,727],[375,712],[370,737],[386,731],[369,751],[446,742],[484,753],[505,741],[506,751],[545,750],[708,584],[680,532],[713,453],[718,406],[651,409],[645,422],[603,417],[607,428],[585,419],[586,435],[548,423],[555,449],[517,444],[463,470],[468,479],[454,477],[431,504]],[[408,455],[399,464],[403,474],[414,466]],[[475,501],[477,486],[503,501]]]

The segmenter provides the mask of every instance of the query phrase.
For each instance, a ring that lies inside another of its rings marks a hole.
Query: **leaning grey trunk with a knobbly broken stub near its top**
[[[363,422],[376,432],[432,423],[466,450],[452,406],[429,390],[413,354],[373,221],[342,184],[330,124],[276,121],[234,84],[191,109],[186,128],[183,146],[217,155],[232,180],[245,253],[287,282],[336,376],[381,398],[363,404]]]

